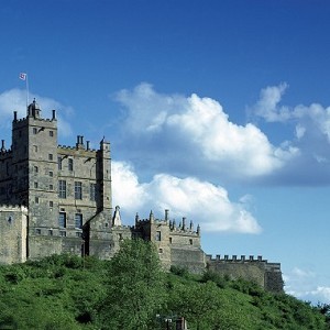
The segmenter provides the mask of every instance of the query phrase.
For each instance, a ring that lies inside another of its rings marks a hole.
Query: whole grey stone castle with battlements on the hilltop
[[[109,142],[92,150],[78,135],[75,146],[58,145],[55,110],[43,119],[34,100],[25,118],[13,112],[11,148],[3,140],[0,148],[0,264],[59,253],[111,258],[123,239],[142,238],[155,243],[165,268],[210,268],[283,290],[279,263],[244,255],[213,258],[201,250],[199,226],[186,218],[177,226],[168,210],[164,219],[136,215],[134,226],[122,226],[111,200]]]

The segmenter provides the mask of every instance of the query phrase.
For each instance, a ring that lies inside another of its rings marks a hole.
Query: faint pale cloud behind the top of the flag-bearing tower
[[[36,99],[36,102],[42,109],[42,116],[44,118],[52,117],[52,110],[55,109],[58,131],[61,136],[70,136],[73,134],[72,125],[67,121],[67,118],[73,113],[72,107],[66,107],[61,102],[42,97],[35,94],[30,95],[30,100]],[[22,89],[10,89],[0,94],[0,128],[10,130],[13,111],[18,111],[19,118],[26,117],[26,91]]]

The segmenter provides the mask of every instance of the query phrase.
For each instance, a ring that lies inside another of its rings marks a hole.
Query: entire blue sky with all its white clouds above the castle
[[[113,204],[200,223],[330,302],[328,1],[3,1],[0,139],[30,99],[59,143],[111,142]]]

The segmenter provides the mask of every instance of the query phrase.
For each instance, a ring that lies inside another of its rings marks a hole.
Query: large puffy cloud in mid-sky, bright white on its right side
[[[198,168],[205,168],[205,173],[257,177],[282,168],[298,153],[289,143],[272,145],[252,123],[231,122],[221,105],[210,98],[161,95],[141,84],[120,91],[117,100],[127,111],[122,142],[134,140],[140,155],[153,152],[154,160],[162,157],[150,164],[158,170],[176,167],[185,175],[189,168],[197,175]]]

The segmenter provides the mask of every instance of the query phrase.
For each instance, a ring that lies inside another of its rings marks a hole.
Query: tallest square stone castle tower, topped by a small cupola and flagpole
[[[40,243],[57,227],[57,120],[41,117],[35,100],[28,107],[26,118],[12,123],[12,194],[13,205],[29,209],[28,256],[42,254]],[[61,242],[48,240],[54,253]],[[55,246],[56,245],[56,246]]]

